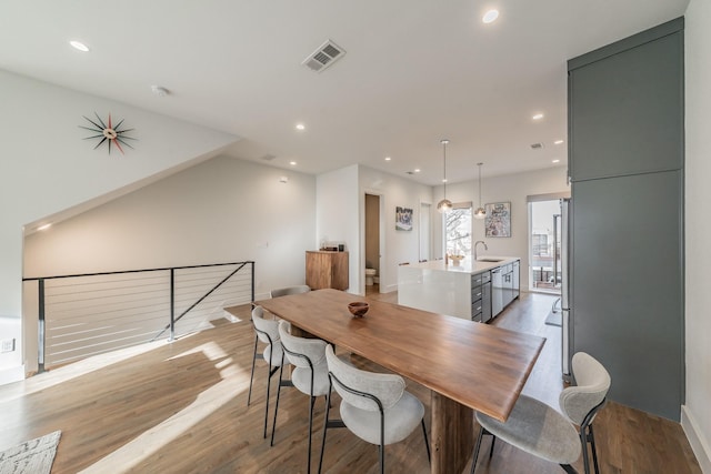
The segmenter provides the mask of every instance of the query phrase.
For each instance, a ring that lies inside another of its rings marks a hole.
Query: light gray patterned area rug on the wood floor
[[[61,431],[0,452],[0,474],[49,474]]]

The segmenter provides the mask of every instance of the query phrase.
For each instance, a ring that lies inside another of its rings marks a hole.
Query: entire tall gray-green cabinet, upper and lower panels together
[[[570,346],[610,399],[683,403],[683,19],[569,61]]]

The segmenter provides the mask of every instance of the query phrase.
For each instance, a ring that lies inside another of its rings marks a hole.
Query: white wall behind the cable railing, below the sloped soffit
[[[304,283],[314,209],[314,177],[218,157],[29,235],[24,274],[253,260],[256,297],[268,297]]]

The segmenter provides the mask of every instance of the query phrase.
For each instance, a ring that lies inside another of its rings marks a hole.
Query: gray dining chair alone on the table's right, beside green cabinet
[[[474,446],[472,474],[477,467],[484,434],[494,436],[489,457],[493,453],[495,438],[500,437],[522,451],[560,464],[569,473],[577,472],[571,464],[578,461],[581,451],[585,474],[590,473],[590,443],[595,473],[599,472],[592,421],[605,403],[611,383],[610,374],[600,362],[584,352],[573,355],[572,370],[577,385],[564,389],[559,397],[563,414],[525,395],[519,397],[505,422],[477,413],[481,430]],[[578,425],[580,431],[577,431],[573,424]]]

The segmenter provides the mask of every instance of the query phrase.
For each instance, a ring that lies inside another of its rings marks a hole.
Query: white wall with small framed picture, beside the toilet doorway
[[[359,173],[360,255],[358,261],[359,289],[365,283],[365,193],[380,195],[381,233],[384,232],[382,268],[380,269],[380,291],[388,293],[398,289],[398,264],[417,262],[420,254],[420,203],[432,202],[432,188],[419,184],[394,174],[368,167],[360,167]],[[395,208],[412,209],[412,230],[395,231]],[[360,292],[360,290],[359,290]]]

